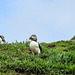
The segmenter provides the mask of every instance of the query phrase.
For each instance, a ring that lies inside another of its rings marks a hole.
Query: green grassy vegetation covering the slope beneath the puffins
[[[39,56],[32,55],[29,42],[0,44],[0,75],[75,74],[75,41],[40,44]]]

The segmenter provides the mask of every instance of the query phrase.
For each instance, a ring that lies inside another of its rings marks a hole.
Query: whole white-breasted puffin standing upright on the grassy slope
[[[32,54],[33,55],[41,54],[42,48],[41,48],[40,44],[37,42],[37,36],[35,34],[33,34],[30,36],[29,40],[31,40],[29,46],[30,46],[30,50],[32,51]]]

